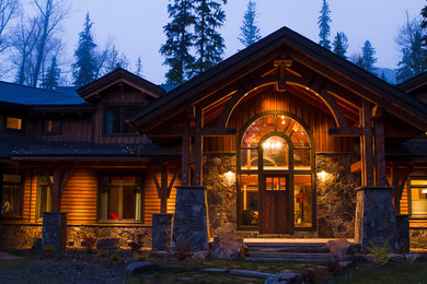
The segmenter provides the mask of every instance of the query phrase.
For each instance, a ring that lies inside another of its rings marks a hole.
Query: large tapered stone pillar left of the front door
[[[172,249],[208,250],[208,220],[205,187],[176,187]]]

